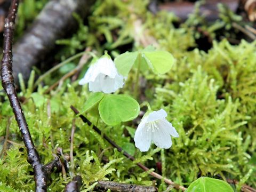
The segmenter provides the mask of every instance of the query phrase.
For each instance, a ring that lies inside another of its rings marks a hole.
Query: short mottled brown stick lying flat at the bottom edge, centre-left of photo
[[[94,190],[97,191],[122,191],[122,192],[153,192],[157,191],[156,187],[153,186],[139,186],[126,183],[118,183],[113,181],[98,181],[97,186],[94,187]]]

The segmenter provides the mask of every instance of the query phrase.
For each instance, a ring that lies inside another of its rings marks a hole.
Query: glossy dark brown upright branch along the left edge
[[[15,119],[18,123],[22,140],[25,144],[28,154],[27,160],[32,165],[34,170],[36,191],[46,191],[47,174],[50,174],[50,170],[52,170],[54,166],[58,165],[57,162],[59,161],[59,159],[54,159],[52,163],[47,164],[46,166],[43,166],[41,164],[39,155],[37,153],[33,140],[31,139],[26,118],[23,114],[23,110],[17,97],[17,92],[15,90],[15,84],[12,75],[12,44],[18,3],[18,0],[12,1],[9,13],[7,15],[7,18],[5,19],[3,59],[1,68],[2,85],[10,100]]]

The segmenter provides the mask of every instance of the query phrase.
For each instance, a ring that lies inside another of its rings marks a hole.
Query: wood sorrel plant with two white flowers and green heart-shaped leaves
[[[91,66],[79,81],[79,85],[89,84],[89,91],[93,92],[86,100],[81,114],[96,108],[102,121],[113,126],[135,119],[139,115],[139,103],[130,95],[115,94],[124,86],[129,71],[136,66],[137,73],[140,73],[140,67],[146,65],[155,74],[164,74],[171,69],[174,61],[171,53],[155,51],[152,46],[140,52],[125,52],[114,61],[107,52],[99,59],[94,57]],[[178,132],[165,119],[165,110],[153,111],[149,105],[148,108],[135,131],[135,146],[140,151],[148,151],[153,141],[159,148],[170,148],[171,136],[179,137]]]

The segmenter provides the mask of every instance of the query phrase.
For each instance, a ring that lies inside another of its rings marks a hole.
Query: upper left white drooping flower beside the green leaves
[[[93,92],[113,93],[124,85],[124,77],[119,75],[115,63],[103,56],[89,67],[79,85],[89,83],[89,90]]]

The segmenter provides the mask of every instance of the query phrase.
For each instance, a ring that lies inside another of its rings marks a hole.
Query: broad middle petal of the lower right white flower
[[[154,126],[154,132],[152,133],[152,140],[157,147],[168,149],[172,146],[172,139],[170,133],[165,126],[159,125],[157,122],[151,122],[151,126]]]

